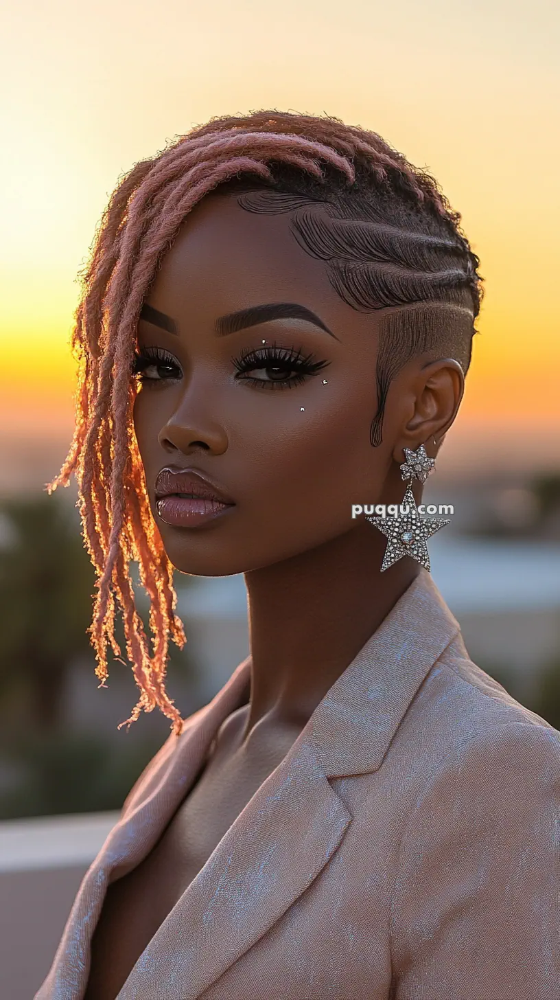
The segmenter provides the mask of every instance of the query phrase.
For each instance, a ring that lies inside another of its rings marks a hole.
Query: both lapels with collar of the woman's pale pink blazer
[[[416,691],[458,633],[458,622],[421,569],[178,900],[117,1000],[196,1000],[280,919],[352,822],[328,779],[380,767]],[[135,787],[80,887],[36,1000],[82,1000],[108,883],[155,845],[221,723],[247,701],[250,666],[248,657],[183,733],[169,737]]]

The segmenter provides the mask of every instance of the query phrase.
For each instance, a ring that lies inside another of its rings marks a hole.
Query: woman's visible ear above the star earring
[[[426,445],[431,458],[435,457],[441,439],[457,416],[465,391],[463,369],[454,358],[424,365],[417,359],[414,369],[407,374],[406,388],[403,387],[408,404],[403,414],[406,423],[395,448],[396,462],[403,461],[403,448],[416,450],[421,444]]]

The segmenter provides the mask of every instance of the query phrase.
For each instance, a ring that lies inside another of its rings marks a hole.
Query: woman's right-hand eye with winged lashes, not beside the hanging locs
[[[279,348],[276,344],[248,350],[231,361],[237,369],[236,378],[258,389],[293,388],[330,364],[316,360],[313,354],[305,355],[301,349]]]

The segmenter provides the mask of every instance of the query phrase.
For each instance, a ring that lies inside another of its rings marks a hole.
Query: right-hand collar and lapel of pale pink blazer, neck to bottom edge
[[[380,767],[416,691],[458,632],[422,570],[178,900],[117,1000],[195,1000],[280,919],[352,822],[329,779]],[[250,662],[242,667],[246,678]],[[208,725],[205,733],[208,743]],[[174,789],[179,766],[193,777],[192,763],[177,757],[167,779]],[[179,801],[175,792],[174,807]]]

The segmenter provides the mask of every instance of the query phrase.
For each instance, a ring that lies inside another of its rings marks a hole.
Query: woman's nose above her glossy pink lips
[[[190,455],[205,451],[221,455],[227,450],[225,427],[210,412],[208,387],[205,393],[195,394],[191,386],[183,395],[181,405],[161,428],[158,441],[168,454],[180,451]]]

